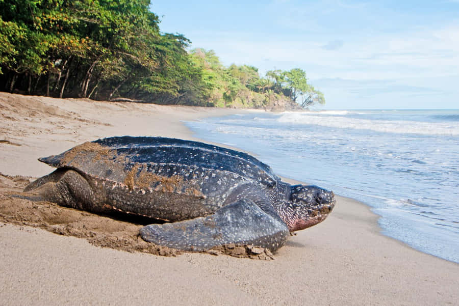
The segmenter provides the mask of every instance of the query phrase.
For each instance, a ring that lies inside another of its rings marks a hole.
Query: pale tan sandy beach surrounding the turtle
[[[53,170],[38,157],[115,135],[196,140],[183,121],[249,111],[0,93],[0,305],[459,303],[458,264],[379,234],[352,199],[253,260],[163,252],[140,225],[10,197]]]

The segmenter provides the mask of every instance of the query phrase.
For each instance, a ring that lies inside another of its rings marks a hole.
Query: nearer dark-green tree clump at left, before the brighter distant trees
[[[176,102],[196,74],[188,39],[161,34],[147,0],[0,0],[0,12],[0,83],[10,91],[28,77],[36,94]]]

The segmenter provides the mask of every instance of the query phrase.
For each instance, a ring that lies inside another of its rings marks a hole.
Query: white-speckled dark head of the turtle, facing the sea
[[[283,219],[290,232],[309,228],[323,221],[335,206],[332,191],[314,185],[290,186]]]

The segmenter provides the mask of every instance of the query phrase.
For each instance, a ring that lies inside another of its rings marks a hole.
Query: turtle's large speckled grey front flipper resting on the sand
[[[213,215],[140,229],[146,241],[183,249],[206,251],[229,243],[251,244],[275,251],[289,236],[287,226],[250,200],[239,200]]]

